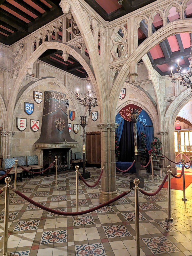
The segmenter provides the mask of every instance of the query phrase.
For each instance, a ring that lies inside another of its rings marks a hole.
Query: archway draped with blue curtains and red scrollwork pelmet
[[[119,124],[116,129],[117,143],[119,144],[119,161],[133,162],[134,160],[134,134],[133,123],[131,121],[131,109],[139,109],[139,119],[137,122],[137,145],[140,145],[140,133],[143,131],[146,135],[146,147],[150,150],[150,143],[153,140],[153,123],[147,112],[140,106],[128,104],[124,106],[116,115],[116,123]]]

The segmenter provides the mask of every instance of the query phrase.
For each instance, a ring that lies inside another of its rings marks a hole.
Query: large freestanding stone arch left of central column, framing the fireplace
[[[9,103],[8,103],[8,116],[7,116],[7,120],[12,120],[12,114],[14,112],[14,107],[15,107],[15,103],[16,103],[16,98],[17,98],[17,91],[19,91],[20,85],[27,73],[27,69],[28,66],[32,66],[33,63],[39,58],[39,56],[41,56],[41,54],[43,52],[45,52],[47,49],[58,49],[58,50],[66,50],[67,52],[70,52],[70,54],[75,57],[81,64],[82,66],[85,68],[85,70],[87,71],[88,76],[90,77],[94,90],[98,92],[97,98],[98,98],[98,102],[101,102],[101,90],[98,90],[97,88],[97,83],[95,80],[95,76],[94,76],[94,72],[92,67],[89,65],[89,58],[86,57],[85,55],[81,54],[81,51],[77,48],[74,48],[73,46],[69,46],[67,44],[64,44],[62,42],[56,42],[56,41],[46,41],[44,42],[42,45],[40,45],[34,52],[33,54],[30,56],[30,58],[28,59],[27,62],[25,62],[24,66],[22,67],[22,69],[20,70],[19,74],[18,74],[18,78],[17,81],[14,85],[14,88],[12,91],[14,91],[14,93],[12,93],[10,95],[10,99],[9,99]],[[101,106],[101,104],[99,104]],[[8,127],[9,129],[11,129],[12,127],[12,122],[8,123]]]

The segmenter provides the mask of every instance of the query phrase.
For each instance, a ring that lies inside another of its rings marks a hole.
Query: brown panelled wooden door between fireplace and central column
[[[101,164],[101,133],[86,132],[87,164]]]

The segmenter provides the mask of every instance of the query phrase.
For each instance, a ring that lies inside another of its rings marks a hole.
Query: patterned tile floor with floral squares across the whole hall
[[[99,168],[91,172],[89,184],[99,177]],[[186,174],[187,176],[191,173]],[[132,174],[117,173],[117,191],[129,187]],[[161,180],[145,179],[145,190],[155,191]],[[13,184],[13,183],[12,183]],[[40,204],[59,211],[75,211],[75,172],[55,177],[34,176],[18,182],[26,196]],[[3,184],[1,184],[3,186]],[[99,204],[97,187],[88,188],[79,182],[79,209],[86,210]],[[0,197],[0,248],[3,247],[4,192]],[[167,189],[157,196],[139,193],[140,255],[192,255],[192,196],[191,185],[186,189],[187,202],[182,191],[171,190],[173,222],[166,222]],[[8,249],[14,256],[135,256],[134,191],[119,201],[75,220],[59,216],[29,204],[20,197],[10,197]],[[0,249],[1,250],[1,249]],[[0,251],[0,253],[2,250]]]

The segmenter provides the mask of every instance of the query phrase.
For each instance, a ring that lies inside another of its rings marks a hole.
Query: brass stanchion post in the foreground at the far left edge
[[[10,252],[7,251],[7,244],[8,244],[8,223],[9,223],[9,190],[11,185],[9,183],[11,179],[9,177],[5,178],[5,217],[4,217],[4,237],[3,237],[3,253],[1,256],[9,256],[12,255]]]

